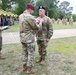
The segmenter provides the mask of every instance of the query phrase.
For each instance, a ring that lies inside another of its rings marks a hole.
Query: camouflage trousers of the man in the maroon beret
[[[23,47],[23,63],[27,66],[34,66],[35,43],[22,43]]]

